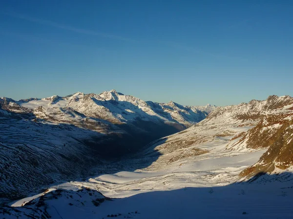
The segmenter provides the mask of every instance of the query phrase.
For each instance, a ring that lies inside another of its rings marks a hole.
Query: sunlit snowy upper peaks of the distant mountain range
[[[49,109],[58,108],[60,110],[75,110],[87,117],[103,119],[117,125],[142,120],[174,123],[181,128],[189,127],[201,121],[215,109],[215,106],[209,104],[207,106],[190,107],[174,102],[167,104],[145,102],[137,97],[124,95],[115,90],[104,91],[100,94],[77,92],[65,97],[54,95],[48,98],[30,98],[20,101],[6,98],[6,102],[32,110],[38,118],[46,120],[59,120],[60,118],[54,117],[54,112],[49,111]],[[43,109],[48,112],[42,112]],[[66,123],[67,118],[64,115],[62,117],[61,122]]]

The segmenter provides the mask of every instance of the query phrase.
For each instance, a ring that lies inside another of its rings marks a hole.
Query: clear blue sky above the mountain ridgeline
[[[0,96],[293,96],[292,0],[1,0]]]

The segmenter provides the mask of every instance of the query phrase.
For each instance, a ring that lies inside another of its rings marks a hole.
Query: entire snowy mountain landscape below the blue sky
[[[1,198],[39,193],[6,218],[293,215],[293,97],[189,107],[112,90],[0,103]]]

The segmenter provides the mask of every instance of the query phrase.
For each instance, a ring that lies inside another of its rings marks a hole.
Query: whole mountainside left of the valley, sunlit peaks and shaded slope
[[[85,177],[105,159],[132,154],[208,114],[169,105],[114,90],[0,98],[0,198],[17,199],[43,185]]]

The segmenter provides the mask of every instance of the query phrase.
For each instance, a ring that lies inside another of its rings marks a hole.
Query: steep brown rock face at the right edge
[[[247,133],[242,141],[252,148],[269,147],[259,161],[243,170],[241,177],[262,173],[278,174],[293,166],[293,113],[268,116]]]

